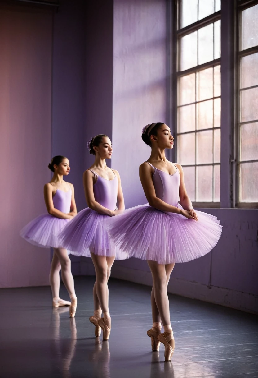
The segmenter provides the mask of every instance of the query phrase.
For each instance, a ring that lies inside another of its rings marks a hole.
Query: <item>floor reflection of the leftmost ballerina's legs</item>
[[[52,313],[52,338],[54,339],[54,346],[55,346],[55,356],[57,359],[61,357],[60,361],[60,370],[62,372],[62,376],[64,378],[69,378],[70,372],[69,369],[71,367],[72,359],[74,358],[75,347],[77,343],[77,329],[75,318],[70,318],[70,330],[71,330],[71,340],[68,341],[67,348],[62,345],[61,337],[60,337],[60,313],[68,311],[68,308],[53,308]],[[66,342],[64,340],[63,342]]]

